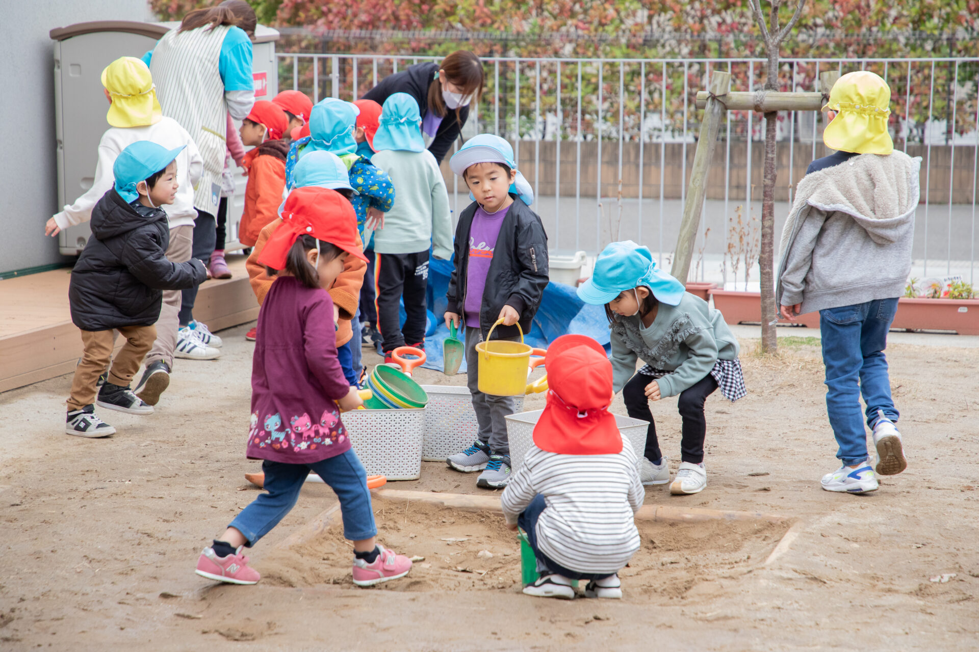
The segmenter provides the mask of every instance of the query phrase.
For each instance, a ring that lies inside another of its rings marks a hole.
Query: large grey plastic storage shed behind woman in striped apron
[[[142,57],[179,22],[96,21],[78,22],[50,32],[55,41],[55,134],[58,152],[58,209],[92,187],[99,140],[110,128],[109,105],[102,89],[102,70],[119,57]],[[253,75],[256,100],[278,93],[279,73],[275,41],[279,32],[256,27]],[[233,164],[232,164],[233,165]],[[228,205],[227,239],[235,248],[238,222],[244,205],[246,178],[236,168],[235,200]],[[66,256],[81,252],[91,230],[82,223],[59,234],[59,248]]]

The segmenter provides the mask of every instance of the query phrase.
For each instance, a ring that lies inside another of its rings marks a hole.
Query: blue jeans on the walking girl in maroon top
[[[344,537],[358,542],[377,535],[370,490],[367,489],[367,472],[353,451],[312,464],[264,460],[261,470],[265,473],[265,491],[268,493],[259,494],[228,527],[242,533],[248,540],[246,545],[255,545],[292,510],[310,469],[323,478],[340,499]]]

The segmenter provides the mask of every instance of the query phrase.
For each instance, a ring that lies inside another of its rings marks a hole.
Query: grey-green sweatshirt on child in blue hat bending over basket
[[[668,371],[656,381],[664,398],[700,382],[718,360],[737,359],[737,339],[720,311],[689,292],[677,306],[661,302],[648,328],[638,316],[617,317],[610,327],[616,392],[629,382],[639,358],[654,369]]]

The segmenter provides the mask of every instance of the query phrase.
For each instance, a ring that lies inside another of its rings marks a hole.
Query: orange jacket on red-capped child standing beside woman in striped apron
[[[289,146],[282,141],[266,141],[245,154],[243,167],[248,171],[245,187],[245,209],[238,226],[238,240],[255,246],[258,233],[279,215],[282,192],[286,188],[286,156]]]

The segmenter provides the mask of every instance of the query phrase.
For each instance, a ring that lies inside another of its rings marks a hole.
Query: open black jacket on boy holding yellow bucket
[[[511,196],[513,196],[511,194]],[[499,227],[492,260],[489,262],[486,288],[483,290],[483,306],[480,309],[480,326],[483,337],[499,317],[503,306],[510,305],[520,313],[520,327],[524,334],[531,331],[531,321],[540,306],[540,297],[547,286],[547,234],[540,218],[520,197],[513,196],[503,224]],[[473,216],[479,206],[475,201],[459,215],[455,227],[455,266],[448,280],[446,310],[457,313],[465,324],[462,314],[466,305],[466,275],[469,273],[469,232]],[[493,335],[517,337],[517,326],[496,326]]]

